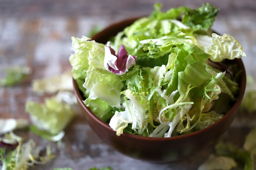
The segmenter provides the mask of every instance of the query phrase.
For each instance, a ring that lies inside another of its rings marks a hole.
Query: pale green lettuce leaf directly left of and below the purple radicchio
[[[94,40],[84,42],[84,44],[86,43],[91,48],[83,48],[84,51],[76,53],[75,56],[79,58],[80,55],[85,55],[83,57],[87,57],[86,60],[88,60],[88,67],[83,68],[83,71],[86,71],[83,87],[90,91],[88,98],[99,98],[112,107],[120,107],[120,92],[124,84],[120,81],[121,77],[119,75],[110,73],[104,67],[104,44],[97,43]],[[79,66],[82,67],[83,63],[80,64]]]

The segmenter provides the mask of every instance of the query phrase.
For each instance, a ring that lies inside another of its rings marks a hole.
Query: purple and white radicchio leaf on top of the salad
[[[105,46],[104,67],[114,74],[124,75],[129,68],[135,65],[136,58],[137,56],[128,55],[124,45],[120,46],[117,55],[110,47],[110,42]]]

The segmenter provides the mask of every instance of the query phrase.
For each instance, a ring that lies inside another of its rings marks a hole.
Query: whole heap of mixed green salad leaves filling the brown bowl
[[[72,37],[72,76],[84,103],[121,135],[171,137],[205,128],[236,100],[238,84],[213,62],[246,56],[231,35],[213,33],[219,9],[203,4],[155,11],[106,44]],[[232,70],[232,68],[230,68]],[[228,103],[227,103],[228,104]]]

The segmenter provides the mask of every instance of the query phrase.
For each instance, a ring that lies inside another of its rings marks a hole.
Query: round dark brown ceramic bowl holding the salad
[[[137,18],[124,20],[122,22],[112,24],[103,31],[92,37],[93,40],[100,43],[106,43],[110,37],[122,31],[129,26]],[[114,147],[117,151],[124,155],[135,159],[141,159],[152,162],[171,162],[184,159],[195,155],[195,153],[203,150],[216,143],[218,138],[229,128],[233,121],[240,103],[245,93],[246,75],[242,60],[236,59],[229,61],[229,64],[237,64],[241,71],[239,77],[240,93],[234,106],[219,121],[207,128],[193,132],[187,135],[180,135],[169,138],[142,137],[124,132],[120,136],[110,128],[108,124],[101,121],[92,111],[83,103],[83,94],[79,91],[76,81],[73,79],[74,92],[81,108],[81,113],[87,119],[88,124],[94,132],[106,144]]]

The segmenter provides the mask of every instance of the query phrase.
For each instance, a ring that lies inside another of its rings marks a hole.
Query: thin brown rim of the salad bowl
[[[97,39],[98,37],[101,37],[106,31],[111,31],[111,29],[113,27],[119,26],[120,24],[126,24],[127,22],[132,22],[135,21],[137,19],[139,19],[141,17],[134,17],[134,18],[128,18],[125,20],[122,20],[120,22],[115,22],[113,24],[110,24],[109,26],[107,26],[105,29],[103,29],[102,31],[100,31],[99,33],[95,34],[92,37],[92,40]],[[232,60],[231,60],[232,61]],[[135,135],[135,134],[131,134],[128,132],[123,132],[120,137],[129,137],[129,138],[133,138],[133,139],[139,139],[139,140],[146,140],[146,141],[175,141],[175,140],[180,140],[180,139],[188,139],[190,137],[194,137],[203,133],[206,133],[209,131],[209,129],[213,129],[215,126],[220,126],[220,124],[222,124],[223,121],[226,121],[227,119],[229,119],[229,116],[232,112],[234,112],[236,109],[239,108],[242,100],[243,100],[243,96],[245,94],[245,87],[246,87],[246,70],[245,70],[245,66],[243,64],[242,59],[234,59],[234,61],[236,61],[236,64],[238,64],[238,68],[240,68],[240,91],[238,94],[238,97],[234,103],[234,105],[231,107],[231,109],[218,121],[216,121],[214,124],[211,124],[210,126],[203,128],[201,130],[189,133],[189,134],[184,134],[184,135],[179,135],[179,136],[173,136],[173,137],[146,137],[146,136],[140,136],[140,135]],[[85,103],[83,102],[82,96],[81,96],[81,91],[79,90],[78,84],[76,82],[76,80],[72,77],[72,82],[73,82],[73,88],[74,88],[74,93],[78,99],[78,102],[81,104],[81,106],[86,110],[86,112],[92,117],[92,119],[94,119],[95,121],[97,121],[99,124],[101,124],[101,126],[103,126],[104,128],[112,131],[114,134],[116,134],[116,131],[113,130],[109,124],[107,124],[106,122],[102,121],[99,117],[97,117],[91,110],[90,108],[88,108]],[[119,136],[117,136],[119,137]]]

